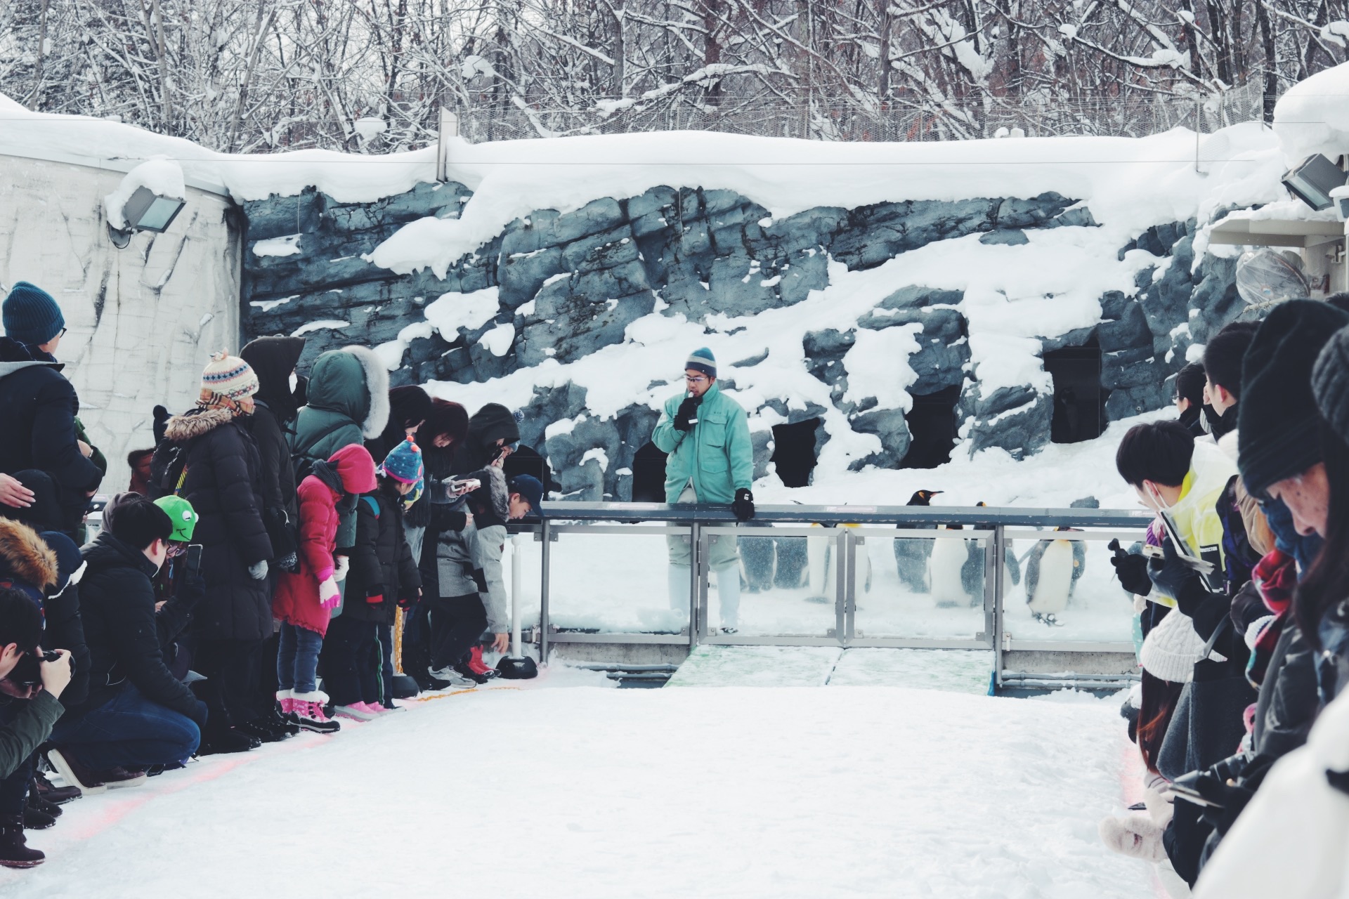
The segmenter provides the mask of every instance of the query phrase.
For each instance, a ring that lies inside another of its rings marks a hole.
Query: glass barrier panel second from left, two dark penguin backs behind
[[[759,530],[764,536],[747,536]],[[793,536],[742,527],[737,535],[710,532],[707,538],[710,633],[834,636],[838,543],[831,530]]]

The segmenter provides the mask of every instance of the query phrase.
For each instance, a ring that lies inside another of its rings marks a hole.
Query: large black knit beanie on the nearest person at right
[[[1349,315],[1291,299],[1260,323],[1241,365],[1237,466],[1252,496],[1321,461],[1311,367]]]

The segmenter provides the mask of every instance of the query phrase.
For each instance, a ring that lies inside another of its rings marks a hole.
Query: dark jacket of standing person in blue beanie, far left
[[[103,473],[76,443],[76,388],[61,365],[0,337],[0,472],[46,472],[62,493],[98,487]]]

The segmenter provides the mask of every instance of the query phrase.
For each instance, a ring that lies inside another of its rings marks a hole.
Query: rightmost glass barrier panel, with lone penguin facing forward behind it
[[[1016,640],[1132,643],[1133,598],[1120,586],[1106,543],[1089,539],[1016,538],[1006,542],[1002,629]],[[1141,538],[1143,532],[1139,532]],[[1128,549],[1128,539],[1121,539]]]

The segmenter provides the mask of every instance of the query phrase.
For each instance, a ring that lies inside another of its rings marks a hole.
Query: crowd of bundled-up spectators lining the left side
[[[390,388],[360,346],[299,377],[304,338],[263,337],[156,407],[109,489],[59,306],[20,282],[3,323],[0,865],[40,864],[24,830],[82,795],[496,675],[506,523],[544,493],[506,473],[518,414]]]

